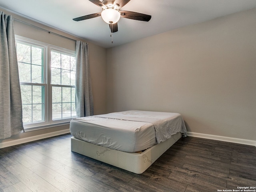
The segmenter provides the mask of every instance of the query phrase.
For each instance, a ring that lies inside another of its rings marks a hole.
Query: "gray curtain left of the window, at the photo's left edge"
[[[24,129],[13,19],[2,11],[0,16],[0,139],[4,139]]]

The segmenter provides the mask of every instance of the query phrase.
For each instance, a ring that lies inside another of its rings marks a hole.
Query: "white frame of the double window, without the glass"
[[[46,44],[37,40],[32,40],[29,38],[24,38],[22,36],[15,35],[15,41],[21,42],[29,45],[42,47],[44,50],[44,83],[26,83],[20,82],[20,85],[38,85],[44,86],[44,122],[35,122],[32,124],[24,124],[25,131],[38,130],[44,128],[51,128],[54,126],[60,126],[69,124],[72,118],[66,118],[62,120],[52,120],[52,86],[60,86],[60,87],[70,87],[66,85],[55,85],[51,84],[51,51],[61,52],[63,54],[68,54],[70,56],[76,57],[76,52],[72,50],[68,50],[65,48],[61,48],[58,46]],[[75,87],[75,86],[72,86]]]

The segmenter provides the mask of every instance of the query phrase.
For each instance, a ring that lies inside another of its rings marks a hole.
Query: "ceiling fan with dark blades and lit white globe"
[[[130,0],[103,0],[102,2],[100,0],[89,1],[101,7],[102,12],[74,18],[74,21],[82,21],[102,16],[102,19],[109,24],[111,33],[114,33],[118,31],[117,22],[120,19],[120,17],[140,21],[149,21],[151,19],[151,15],[146,15],[132,11],[119,10],[120,8],[125,6]]]

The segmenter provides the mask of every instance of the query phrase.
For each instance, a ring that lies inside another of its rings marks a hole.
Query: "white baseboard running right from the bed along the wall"
[[[212,140],[218,140],[218,141],[225,141],[225,142],[231,142],[231,143],[238,143],[238,144],[244,144],[244,145],[256,146],[256,141],[254,141],[254,140],[232,138],[232,137],[224,137],[224,136],[209,135],[209,134],[194,133],[194,132],[188,132],[188,136],[205,138],[205,139],[212,139]]]

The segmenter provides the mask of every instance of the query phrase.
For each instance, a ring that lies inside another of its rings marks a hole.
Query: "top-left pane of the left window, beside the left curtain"
[[[31,63],[30,45],[17,43],[16,51],[18,62]]]

